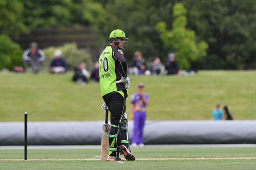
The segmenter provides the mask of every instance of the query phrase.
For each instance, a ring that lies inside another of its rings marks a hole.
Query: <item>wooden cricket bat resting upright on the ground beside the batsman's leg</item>
[[[102,136],[101,136],[101,160],[106,161],[109,152],[109,134],[110,125],[108,123],[109,110],[106,109],[105,123],[102,126]]]

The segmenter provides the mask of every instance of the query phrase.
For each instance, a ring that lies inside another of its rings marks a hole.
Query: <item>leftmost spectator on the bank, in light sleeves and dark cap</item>
[[[28,72],[28,67],[31,66],[33,73],[37,74],[45,59],[45,54],[38,48],[38,44],[36,42],[32,42],[30,44],[30,48],[25,50],[23,53],[26,72]]]

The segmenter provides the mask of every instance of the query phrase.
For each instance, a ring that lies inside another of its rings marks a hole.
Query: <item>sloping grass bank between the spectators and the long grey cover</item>
[[[131,76],[131,94],[143,82],[150,95],[148,120],[211,119],[216,102],[228,105],[234,119],[256,119],[255,71],[199,71],[194,76]],[[102,120],[99,84],[71,82],[72,73],[0,73],[0,121]]]

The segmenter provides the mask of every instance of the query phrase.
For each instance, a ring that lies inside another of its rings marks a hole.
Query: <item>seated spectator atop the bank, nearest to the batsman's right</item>
[[[134,52],[134,59],[132,67],[129,69],[130,74],[132,75],[141,75],[144,74],[146,70],[145,61],[142,58],[142,53],[139,51]]]

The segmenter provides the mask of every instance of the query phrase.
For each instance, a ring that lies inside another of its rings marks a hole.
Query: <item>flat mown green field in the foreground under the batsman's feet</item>
[[[100,149],[0,150],[0,169],[255,169],[256,147],[135,148],[136,161],[104,162]],[[11,160],[12,159],[12,160]]]

